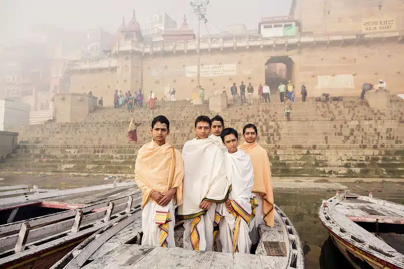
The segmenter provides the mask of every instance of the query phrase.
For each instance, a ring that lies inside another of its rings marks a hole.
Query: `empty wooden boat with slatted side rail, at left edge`
[[[133,182],[70,190],[18,185],[0,191],[1,268],[49,268],[94,233],[123,228],[141,216],[141,193]],[[39,216],[26,219],[32,211]]]

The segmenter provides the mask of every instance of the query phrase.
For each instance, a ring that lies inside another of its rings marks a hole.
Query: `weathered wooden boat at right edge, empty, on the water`
[[[326,201],[319,217],[346,259],[360,268],[404,268],[404,206],[345,192]]]

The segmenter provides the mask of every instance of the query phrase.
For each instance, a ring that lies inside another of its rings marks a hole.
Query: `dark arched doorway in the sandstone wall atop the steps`
[[[265,83],[271,89],[271,94],[278,91],[281,82],[287,84],[292,79],[293,61],[288,56],[274,56],[265,63]]]

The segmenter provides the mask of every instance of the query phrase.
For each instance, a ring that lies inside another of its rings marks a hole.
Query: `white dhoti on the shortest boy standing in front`
[[[219,238],[222,245],[222,252],[233,253],[234,230],[236,228],[236,217],[234,217],[224,206],[223,217],[219,222]],[[240,253],[250,253],[251,240],[249,239],[249,228],[247,223],[241,219],[237,238],[237,248]]]

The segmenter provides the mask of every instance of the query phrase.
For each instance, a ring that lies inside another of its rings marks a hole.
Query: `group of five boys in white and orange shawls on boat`
[[[199,116],[196,138],[182,154],[166,137],[170,122],[157,116],[153,139],[143,145],[135,164],[142,191],[142,245],[175,247],[177,219],[184,221],[183,246],[193,250],[255,252],[259,225],[274,225],[271,169],[253,124],[238,133],[224,128],[223,118]]]

